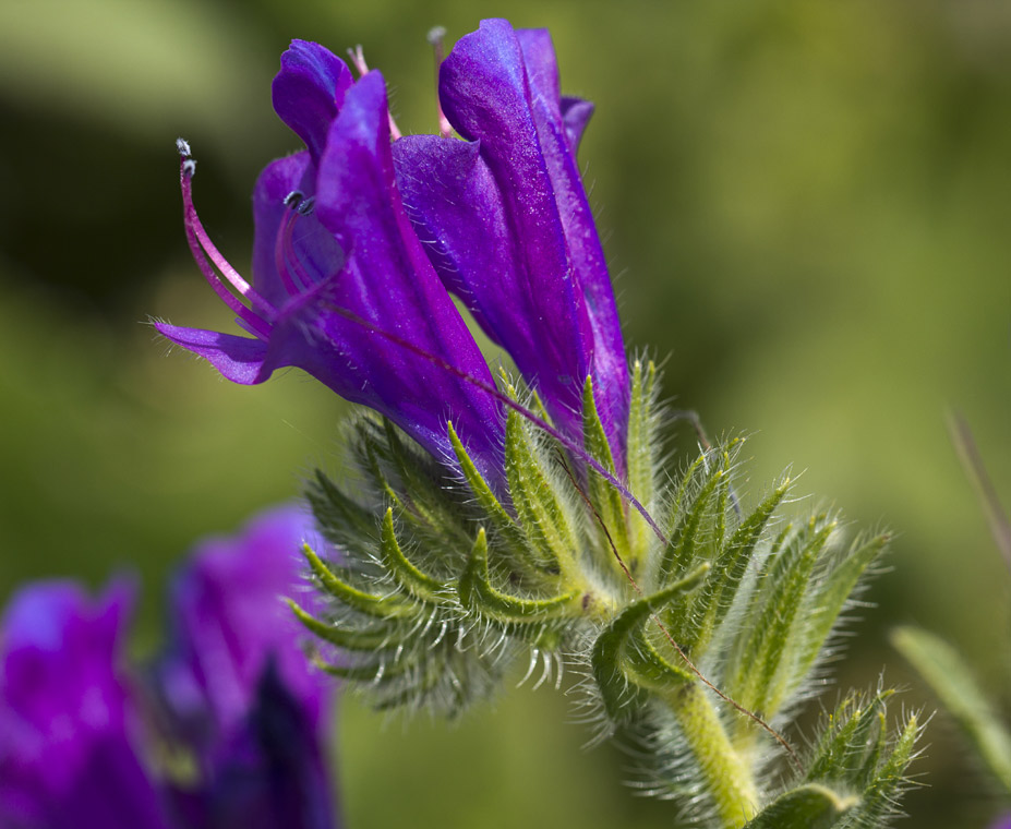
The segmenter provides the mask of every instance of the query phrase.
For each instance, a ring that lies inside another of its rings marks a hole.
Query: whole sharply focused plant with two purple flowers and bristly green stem
[[[667,462],[576,161],[592,106],[561,95],[547,33],[461,38],[434,135],[401,137],[353,62],[281,57],[274,106],[305,149],[256,184],[251,283],[201,225],[180,142],[191,248],[250,336],[157,323],[237,383],[297,367],[371,409],[347,425],[356,482],[308,489],[325,603],[291,610],[316,660],[377,708],[448,717],[508,677],[568,676],[594,737],[635,748],[633,782],[701,826],[887,824],[915,716],[890,728],[877,688],[814,738],[790,730],[887,539],[780,517],[785,478],[746,508],[739,441]]]

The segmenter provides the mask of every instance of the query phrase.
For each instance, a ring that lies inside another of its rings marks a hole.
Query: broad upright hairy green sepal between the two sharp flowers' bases
[[[566,510],[515,411],[506,418],[505,466],[513,506],[531,546],[540,553],[538,564],[549,572],[566,569],[576,550]]]

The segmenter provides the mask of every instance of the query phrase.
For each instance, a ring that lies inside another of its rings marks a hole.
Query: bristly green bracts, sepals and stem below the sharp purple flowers
[[[659,533],[517,411],[498,493],[452,425],[456,476],[388,421],[354,421],[359,485],[317,473],[309,493],[335,545],[305,550],[327,612],[292,605],[318,661],[380,708],[450,717],[507,673],[561,686],[569,669],[597,737],[633,744],[637,784],[703,826],[883,825],[919,728],[889,735],[888,693],[846,697],[804,756],[783,733],[887,538],[846,544],[831,514],[780,517],[786,479],[744,508],[741,441],[670,477],[655,368],[630,374],[626,482]],[[613,473],[593,399],[588,380],[583,446]]]

